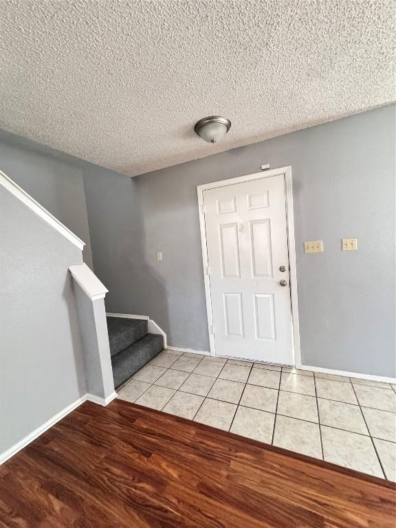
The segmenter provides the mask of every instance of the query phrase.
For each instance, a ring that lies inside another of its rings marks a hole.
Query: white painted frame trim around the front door
[[[203,208],[203,191],[218,187],[225,187],[234,184],[241,184],[254,179],[269,178],[283,174],[285,177],[286,194],[286,223],[287,223],[287,244],[289,246],[289,267],[290,267],[290,295],[292,298],[292,333],[293,333],[293,358],[294,366],[300,368],[300,328],[298,325],[298,298],[297,298],[297,270],[296,270],[296,247],[294,242],[294,212],[293,212],[293,188],[292,188],[292,167],[274,168],[265,172],[248,174],[236,178],[213,181],[211,184],[197,186],[199,204],[199,227],[201,229],[203,277],[205,281],[206,311],[208,314],[208,329],[210,342],[210,355],[216,355],[214,347],[214,334],[212,333],[212,301],[210,296],[210,280],[208,275],[208,248],[206,245],[205,212]]]

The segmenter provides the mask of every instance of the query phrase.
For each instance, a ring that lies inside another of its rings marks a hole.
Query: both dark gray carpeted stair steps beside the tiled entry
[[[164,349],[164,338],[147,327],[146,319],[107,317],[115,388]]]

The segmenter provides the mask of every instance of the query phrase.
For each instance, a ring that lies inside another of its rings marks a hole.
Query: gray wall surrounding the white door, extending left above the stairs
[[[265,163],[293,171],[303,364],[395,375],[394,105],[131,181],[85,173],[107,309],[147,314],[170,345],[208,350],[196,187]],[[344,236],[358,238],[358,252],[341,252]],[[304,254],[316,239],[325,252]]]

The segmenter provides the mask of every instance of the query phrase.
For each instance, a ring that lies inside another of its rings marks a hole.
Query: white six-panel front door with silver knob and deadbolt
[[[216,355],[293,364],[284,175],[203,190]]]

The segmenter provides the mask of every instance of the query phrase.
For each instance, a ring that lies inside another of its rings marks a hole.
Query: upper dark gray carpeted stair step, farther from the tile
[[[107,317],[107,329],[113,356],[146,336],[147,320]]]

